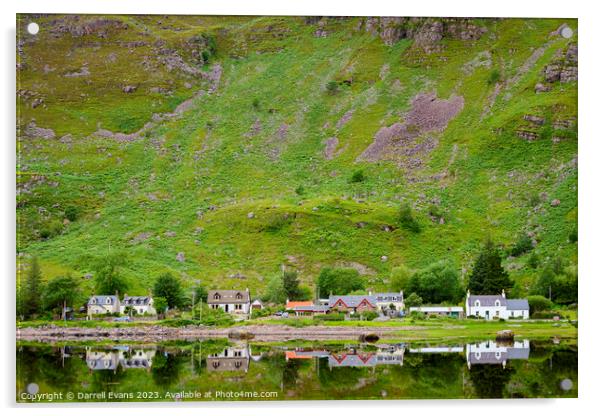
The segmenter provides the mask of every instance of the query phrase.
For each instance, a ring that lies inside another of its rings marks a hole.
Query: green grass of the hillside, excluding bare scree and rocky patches
[[[576,116],[574,84],[556,85],[546,94],[533,92],[545,64],[568,43],[548,37],[561,21],[488,21],[489,32],[480,40],[444,40],[443,52],[425,55],[410,40],[388,47],[354,31],[355,21],[332,21],[330,34],[316,38],[315,26],[297,18],[179,17],[186,29],[173,33],[161,30],[156,18],[123,19],[132,28],[145,27],[145,36],[166,38],[175,45],[192,34],[216,33],[222,82],[216,94],[137,142],[27,143],[22,157],[30,172],[61,172],[57,187],[36,188],[21,198],[18,211],[25,235],[19,249],[40,255],[48,277],[68,271],[82,274],[83,256],[124,250],[130,257],[125,272],[135,282],[134,289],[144,293],[163,270],[187,281],[200,279],[209,287],[260,291],[283,263],[299,269],[307,282],[322,266],[361,263],[374,270],[370,285],[378,289],[397,264],[417,268],[445,258],[467,268],[486,235],[510,245],[519,233],[534,229],[542,257],[560,253],[576,261],[576,246],[567,241],[576,222],[577,171],[569,164],[577,152],[576,135],[553,144],[550,138],[526,142],[514,134],[524,114]],[[218,30],[224,27],[227,30]],[[127,36],[140,35],[130,31]],[[498,96],[491,114],[483,116],[494,88],[487,83],[492,69],[499,68],[502,78],[510,79],[535,48],[548,41],[544,55]],[[73,41],[53,42],[53,47],[67,49]],[[40,42],[31,50],[26,47],[26,54],[43,56],[39,53],[44,46]],[[118,48],[101,48],[114,49]],[[100,55],[76,50],[94,73],[93,62]],[[494,51],[491,68],[462,71],[485,50]],[[50,57],[40,58],[39,65],[45,59]],[[124,59],[132,65],[138,62]],[[381,79],[385,64],[389,71]],[[96,89],[101,80],[111,85],[123,74],[135,82],[144,76],[140,71],[107,69],[89,88]],[[156,76],[158,85],[175,77]],[[40,77],[38,71],[21,80],[33,88]],[[351,86],[336,95],[325,92],[328,81],[349,77]],[[177,78],[176,93],[169,99],[154,98],[142,88],[127,97],[120,90],[114,96],[90,91],[93,99],[81,105],[47,99],[48,109],[26,109],[24,117],[35,112],[38,125],[59,135],[81,137],[94,131],[98,121],[106,128],[135,131],[152,113],[170,111],[192,94],[181,87],[184,78]],[[64,78],[44,81],[61,88]],[[422,168],[407,172],[390,163],[355,162],[380,127],[402,119],[411,98],[430,90],[442,98],[462,95],[465,105],[439,135],[438,146],[422,157]],[[354,110],[351,120],[337,130],[334,126],[349,110]],[[257,120],[260,131],[248,134]],[[289,128],[281,139],[283,123]],[[325,160],[324,141],[335,135],[344,150]],[[368,179],[350,183],[360,168]],[[446,169],[446,178],[432,179]],[[295,193],[299,185],[305,190],[302,195]],[[544,202],[534,213],[530,201],[541,192],[550,200],[560,199],[561,205],[550,208]],[[443,225],[427,215],[432,199],[441,201]],[[416,207],[424,226],[421,234],[381,230],[395,223],[400,200]],[[46,241],[31,237],[32,230],[48,221],[38,207],[46,208],[51,219],[62,220],[62,210],[70,204],[83,207],[78,221]],[[254,218],[247,217],[250,212]],[[360,221],[366,223],[364,228],[356,227]],[[165,236],[166,231],[174,231],[175,237]],[[140,233],[151,237],[132,242]],[[185,262],[176,260],[178,252],[185,253]],[[387,262],[381,261],[383,255]],[[513,277],[526,287],[536,271],[523,265],[524,258],[508,263],[513,264]],[[224,279],[237,272],[247,279]]]

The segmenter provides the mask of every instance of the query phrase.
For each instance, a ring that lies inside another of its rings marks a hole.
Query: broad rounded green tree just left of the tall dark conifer
[[[408,281],[406,290],[416,293],[427,303],[457,303],[464,294],[459,273],[446,261],[433,263],[416,272]]]

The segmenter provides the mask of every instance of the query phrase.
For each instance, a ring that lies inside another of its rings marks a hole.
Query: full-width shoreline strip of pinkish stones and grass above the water
[[[291,340],[327,341],[352,340],[366,335],[379,339],[404,338],[407,340],[441,340],[448,338],[492,338],[500,330],[510,329],[516,337],[577,338],[577,328],[564,323],[551,324],[497,324],[462,325],[449,323],[442,325],[383,325],[383,326],[342,326],[308,325],[294,327],[283,324],[238,325],[231,327],[169,327],[162,325],[132,325],[119,327],[79,327],[79,326],[30,326],[17,328],[17,341],[38,342],[162,342],[198,341],[202,339],[249,340],[257,342],[278,342]]]

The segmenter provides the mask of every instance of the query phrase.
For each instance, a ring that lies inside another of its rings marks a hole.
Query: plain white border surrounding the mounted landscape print
[[[2,264],[4,271],[4,308],[1,309],[3,324],[2,368],[4,377],[0,392],[2,405],[8,414],[24,415],[57,414],[62,415],[105,415],[132,414],[144,412],[145,415],[159,415],[178,408],[178,414],[219,413],[234,415],[239,413],[259,413],[262,415],[287,416],[308,413],[360,414],[366,412],[414,412],[422,414],[465,415],[487,414],[504,415],[526,412],[545,414],[585,414],[588,410],[602,404],[600,385],[600,304],[602,293],[600,281],[602,274],[598,260],[600,235],[602,234],[602,207],[600,179],[602,175],[600,158],[602,157],[600,134],[598,131],[600,110],[598,102],[602,97],[599,73],[600,62],[599,27],[602,16],[596,10],[594,2],[579,1],[525,1],[504,0],[486,1],[421,1],[400,2],[386,0],[21,0],[17,4],[2,2],[2,100],[5,103],[2,117],[2,206],[5,220],[5,232],[2,241]],[[477,17],[571,17],[579,18],[579,269],[580,269],[580,305],[579,305],[579,399],[574,400],[495,400],[495,401],[405,401],[405,402],[279,402],[279,403],[210,403],[210,404],[154,404],[154,405],[72,405],[53,408],[20,407],[14,405],[14,270],[15,270],[15,13],[99,13],[99,14],[271,14],[271,15],[402,15],[402,16],[477,16]],[[598,243],[598,244],[596,244]],[[596,261],[598,260],[598,261]],[[106,407],[111,409],[105,409]],[[138,409],[134,409],[138,407]],[[139,409],[139,407],[142,407]],[[599,409],[598,409],[599,411]]]

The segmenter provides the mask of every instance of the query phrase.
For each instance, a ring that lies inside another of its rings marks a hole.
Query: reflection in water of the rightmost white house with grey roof
[[[513,343],[497,343],[485,341],[466,345],[466,362],[468,368],[475,364],[501,364],[506,367],[508,360],[527,360],[529,358],[529,341]]]

